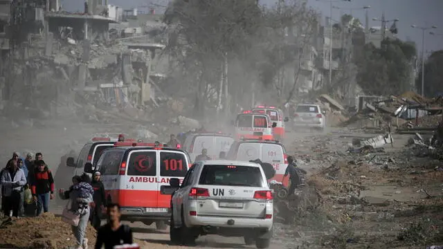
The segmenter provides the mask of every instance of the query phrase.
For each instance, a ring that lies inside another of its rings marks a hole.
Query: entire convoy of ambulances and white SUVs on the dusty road
[[[318,105],[300,104],[294,117],[296,127],[325,127]],[[262,167],[249,160],[271,163],[275,176],[269,181],[282,182],[287,152],[273,139],[284,138],[287,121],[280,109],[257,106],[237,115],[234,137],[190,133],[177,148],[96,137],[66,165],[75,169],[73,174],[99,171],[107,199],[121,206],[124,221],[156,223],[158,229],[169,223],[173,242],[188,244],[200,235],[221,234],[268,248],[273,196]],[[202,149],[213,160],[192,165]],[[227,160],[214,160],[220,152],[227,153]]]

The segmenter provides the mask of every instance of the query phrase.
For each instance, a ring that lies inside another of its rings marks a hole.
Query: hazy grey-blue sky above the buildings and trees
[[[60,0],[64,9],[69,11],[82,10],[84,0]],[[214,0],[223,1],[223,0]],[[443,49],[443,0],[351,0],[340,1],[332,0],[333,5],[340,8],[361,8],[363,6],[371,6],[369,10],[370,26],[381,26],[380,21],[372,21],[372,18],[381,18],[384,10],[386,19],[399,19],[397,28],[399,30],[398,37],[400,39],[410,39],[417,44],[419,53],[422,49],[422,30],[411,28],[412,24],[417,26],[438,26],[433,30],[439,36],[429,35],[427,30],[425,33],[425,49],[440,50]],[[108,0],[109,4],[122,6],[123,8],[136,8],[147,3],[165,4],[168,0]],[[260,0],[260,3],[272,5],[275,0]],[[323,13],[323,16],[329,16],[329,0],[308,0],[308,4],[316,10]],[[147,11],[146,8],[139,10]],[[350,10],[332,10],[332,18],[339,19],[341,12],[349,13]],[[352,15],[361,19],[364,24],[365,12],[363,10],[352,10]],[[324,21],[324,18],[323,18]],[[388,27],[390,24],[388,24]]]

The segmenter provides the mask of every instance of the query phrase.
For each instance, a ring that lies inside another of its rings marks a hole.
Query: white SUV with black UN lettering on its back
[[[164,190],[166,191],[166,190]],[[199,235],[244,237],[268,248],[272,236],[273,199],[262,167],[236,160],[197,162],[183,183],[170,180],[170,239],[192,244]]]

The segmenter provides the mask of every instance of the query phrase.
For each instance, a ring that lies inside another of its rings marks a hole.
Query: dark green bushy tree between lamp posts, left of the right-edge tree
[[[358,66],[357,82],[367,94],[389,95],[410,90],[414,44],[399,39],[385,39],[381,48],[373,44],[364,47]]]

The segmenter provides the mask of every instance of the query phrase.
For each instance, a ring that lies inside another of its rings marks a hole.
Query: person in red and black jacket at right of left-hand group
[[[42,209],[48,212],[49,199],[54,199],[54,178],[44,160],[37,160],[35,166],[37,170],[34,173],[31,190],[34,201],[37,201],[37,216],[39,216],[42,214]]]

